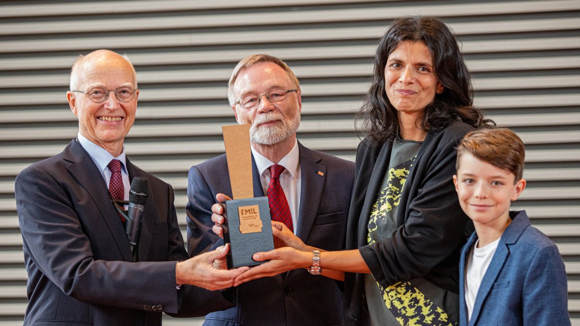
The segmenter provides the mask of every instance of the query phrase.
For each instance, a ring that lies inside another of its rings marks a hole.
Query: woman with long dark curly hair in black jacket
[[[434,17],[394,21],[360,110],[367,137],[357,150],[347,250],[306,246],[273,222],[274,236],[293,248],[256,253],[270,262],[238,280],[312,266],[311,274],[345,278],[347,325],[458,324],[459,251],[470,232],[452,181],[455,146],[494,125],[472,104],[452,31]]]

